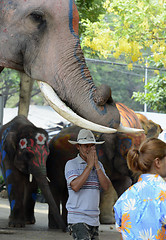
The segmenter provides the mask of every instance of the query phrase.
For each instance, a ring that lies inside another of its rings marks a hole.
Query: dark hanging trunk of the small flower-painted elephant
[[[48,203],[49,207],[51,208],[51,211],[53,213],[53,216],[54,216],[54,219],[55,219],[55,222],[57,224],[57,226],[59,226],[60,229],[62,229],[63,231],[66,230],[66,225],[59,213],[59,209],[54,201],[54,198],[52,196],[52,193],[50,191],[50,188],[49,188],[49,184],[48,184],[48,181],[46,179],[46,176],[45,175],[41,175],[41,174],[33,174],[32,175],[35,177],[37,183],[38,183],[38,186],[42,192],[42,194],[44,195],[45,199],[46,199],[46,202]]]

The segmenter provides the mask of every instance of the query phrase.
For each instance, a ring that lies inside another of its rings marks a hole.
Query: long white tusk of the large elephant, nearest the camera
[[[90,121],[78,116],[69,107],[67,107],[66,104],[64,104],[64,102],[62,102],[60,100],[60,98],[57,96],[57,94],[55,93],[55,91],[52,89],[52,87],[50,85],[48,85],[45,82],[41,82],[39,80],[37,80],[37,82],[39,84],[40,90],[44,94],[44,97],[49,102],[50,106],[58,114],[60,114],[65,119],[67,119],[69,122],[71,122],[79,127],[86,128],[86,129],[96,131],[96,132],[102,132],[102,133],[117,132],[117,130],[114,128],[105,127],[105,126],[90,122]]]

